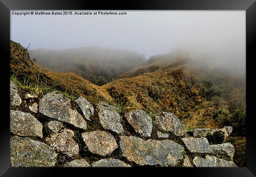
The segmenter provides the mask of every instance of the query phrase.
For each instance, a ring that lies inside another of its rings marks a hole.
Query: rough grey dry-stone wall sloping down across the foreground
[[[186,132],[170,112],[117,112],[106,102],[41,98],[10,81],[12,167],[236,167],[234,147],[223,143],[232,127]]]

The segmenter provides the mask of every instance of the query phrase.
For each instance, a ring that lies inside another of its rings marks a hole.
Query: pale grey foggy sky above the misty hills
[[[134,51],[147,59],[184,51],[245,72],[245,11],[111,11],[126,15],[12,12],[25,11],[11,11],[11,40],[24,47],[30,43],[29,50],[100,46]]]

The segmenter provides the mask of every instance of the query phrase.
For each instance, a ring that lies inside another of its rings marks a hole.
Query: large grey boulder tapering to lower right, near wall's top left
[[[39,112],[80,129],[86,129],[82,116],[71,108],[70,100],[58,92],[49,92],[39,101]]]

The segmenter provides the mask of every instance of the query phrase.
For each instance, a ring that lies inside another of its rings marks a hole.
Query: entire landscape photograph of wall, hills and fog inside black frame
[[[246,167],[245,10],[10,10],[10,167]]]

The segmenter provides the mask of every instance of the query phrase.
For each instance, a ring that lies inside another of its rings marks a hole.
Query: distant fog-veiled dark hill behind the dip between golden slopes
[[[100,47],[67,50],[28,51],[43,68],[55,72],[74,72],[96,85],[103,85],[145,62],[144,55],[127,50]]]

